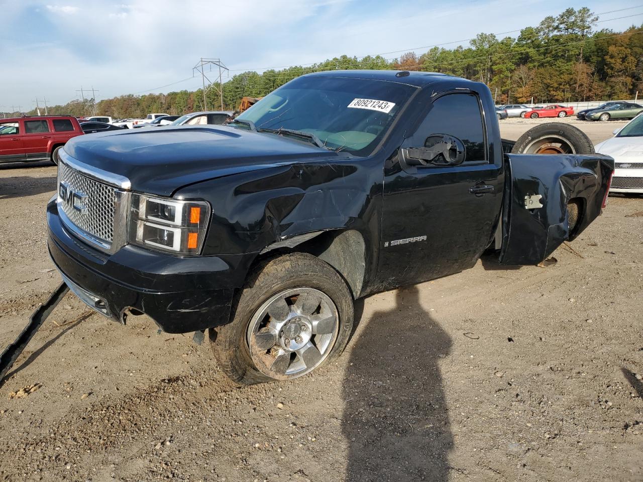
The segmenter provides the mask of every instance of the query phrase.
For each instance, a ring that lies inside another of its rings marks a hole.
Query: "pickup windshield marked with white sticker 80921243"
[[[314,134],[331,150],[367,156],[415,89],[384,80],[299,77],[237,118],[246,123],[230,125],[237,129],[251,129],[253,125],[259,131],[299,130]]]

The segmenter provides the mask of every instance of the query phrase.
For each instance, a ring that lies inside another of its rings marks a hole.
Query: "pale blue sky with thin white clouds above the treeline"
[[[96,100],[194,90],[201,57],[221,58],[225,81],[343,54],[453,48],[477,33],[536,26],[570,6],[628,8],[600,15],[599,28],[643,23],[643,0],[0,0],[0,111],[28,111],[36,97],[64,104],[81,88],[96,89]]]

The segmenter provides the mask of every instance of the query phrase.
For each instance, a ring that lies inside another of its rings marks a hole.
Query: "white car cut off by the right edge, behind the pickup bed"
[[[614,158],[610,192],[643,193],[643,112],[614,134],[594,147],[599,154]]]

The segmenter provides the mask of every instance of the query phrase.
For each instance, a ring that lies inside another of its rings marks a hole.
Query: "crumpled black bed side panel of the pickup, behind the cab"
[[[505,154],[500,263],[538,264],[601,214],[614,159],[600,154]],[[570,230],[567,205],[579,204]]]

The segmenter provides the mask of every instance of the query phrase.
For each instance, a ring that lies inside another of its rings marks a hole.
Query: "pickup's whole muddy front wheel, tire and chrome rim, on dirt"
[[[306,253],[260,263],[231,322],[210,329],[214,355],[240,384],[289,380],[343,352],[353,328],[350,290],[331,265]]]

